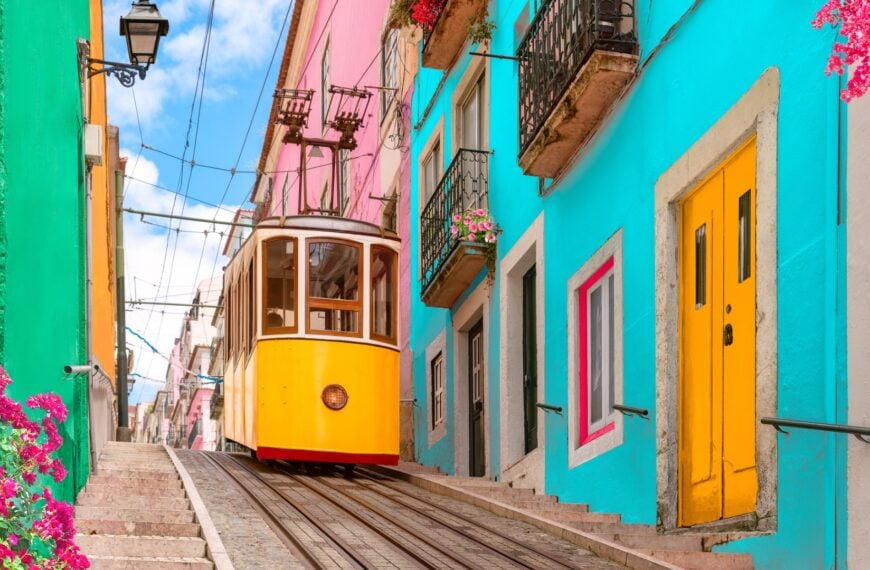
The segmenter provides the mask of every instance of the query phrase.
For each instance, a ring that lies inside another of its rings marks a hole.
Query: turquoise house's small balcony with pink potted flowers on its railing
[[[452,307],[486,264],[490,246],[460,241],[450,226],[454,215],[487,207],[488,174],[488,151],[460,149],[423,208],[421,290],[430,307]]]

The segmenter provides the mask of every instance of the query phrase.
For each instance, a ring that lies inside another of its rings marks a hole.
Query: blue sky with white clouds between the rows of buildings
[[[170,22],[157,62],[132,89],[107,78],[109,121],[119,127],[121,155],[128,157],[125,208],[229,220],[247,203],[254,175],[242,171],[259,162],[292,1],[155,2]],[[105,0],[103,10],[106,59],[127,62],[117,34],[130,1]],[[231,168],[240,172],[233,176]],[[222,275],[227,259],[220,234],[227,226],[144,219],[124,218],[128,300],[189,303],[197,283]],[[127,335],[136,379],[131,404],[153,400],[162,388],[185,310],[128,305],[127,326],[148,341]]]

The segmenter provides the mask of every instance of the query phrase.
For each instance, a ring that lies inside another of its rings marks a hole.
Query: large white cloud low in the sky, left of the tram
[[[157,165],[140,157],[134,160],[135,153],[126,150],[122,155],[130,156],[124,190],[124,207],[148,212],[174,213],[181,211],[181,198],[175,200],[172,192],[152,186],[159,184],[160,172]],[[203,219],[230,220],[237,206],[215,208],[202,204],[188,204],[184,210],[186,216]],[[163,228],[143,223],[133,214],[127,214],[124,220],[124,246],[126,260],[126,296],[135,300],[158,300],[177,303],[189,303],[196,290],[196,285],[211,277],[220,277],[226,263],[226,258],[220,255],[219,248],[223,246],[223,238],[217,232],[225,232],[226,226],[206,222],[179,223],[168,219],[146,216],[145,220],[160,226],[179,227],[182,231],[171,235],[167,248],[167,231]],[[215,231],[216,230],[216,231]],[[208,233],[205,233],[208,231]],[[176,245],[177,238],[177,245]],[[173,250],[174,264],[171,264]],[[164,263],[165,261],[165,263]],[[164,271],[163,283],[169,287],[161,287],[157,283],[161,271]],[[171,279],[169,274],[171,271]],[[147,306],[142,305],[127,312],[127,326],[142,334],[161,354],[169,355],[175,338],[179,336],[185,307]],[[137,379],[131,394],[131,402],[149,401],[154,393],[162,387],[166,378],[167,360],[154,354],[147,345],[135,336],[128,334],[127,345],[136,353],[134,372],[145,377],[161,381],[149,382]]]

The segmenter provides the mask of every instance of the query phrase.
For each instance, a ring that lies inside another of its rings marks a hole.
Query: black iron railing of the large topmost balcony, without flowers
[[[595,50],[635,53],[634,0],[548,0],[517,49],[522,155]]]

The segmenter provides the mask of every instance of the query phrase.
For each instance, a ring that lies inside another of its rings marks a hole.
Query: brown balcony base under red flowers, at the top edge
[[[448,69],[465,45],[468,22],[486,10],[487,0],[447,0],[423,38],[423,66]]]

